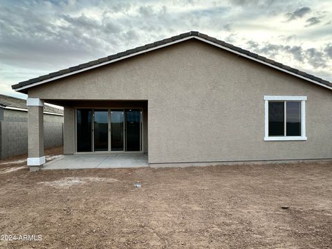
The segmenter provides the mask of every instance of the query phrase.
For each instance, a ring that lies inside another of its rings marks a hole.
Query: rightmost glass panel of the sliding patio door
[[[140,151],[140,109],[126,109],[126,151]]]

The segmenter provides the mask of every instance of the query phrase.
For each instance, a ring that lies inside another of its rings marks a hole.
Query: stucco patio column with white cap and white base
[[[28,166],[38,171],[45,163],[44,156],[44,100],[28,98]]]

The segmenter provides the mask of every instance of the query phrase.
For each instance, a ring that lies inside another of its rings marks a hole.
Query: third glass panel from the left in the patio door
[[[124,150],[124,111],[111,110],[111,151]]]

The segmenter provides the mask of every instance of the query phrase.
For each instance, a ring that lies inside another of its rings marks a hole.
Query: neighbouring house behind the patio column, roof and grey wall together
[[[44,145],[62,145],[64,111],[44,106]],[[28,153],[26,100],[0,94],[0,159]]]

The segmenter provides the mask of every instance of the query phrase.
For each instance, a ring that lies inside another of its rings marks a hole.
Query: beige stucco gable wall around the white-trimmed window
[[[332,158],[331,90],[199,41],[37,86],[28,95],[148,100],[149,163]],[[264,141],[264,95],[307,96],[307,141]]]

